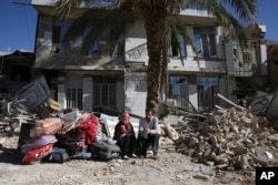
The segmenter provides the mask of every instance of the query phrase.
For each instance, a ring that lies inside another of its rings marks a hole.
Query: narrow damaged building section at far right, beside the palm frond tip
[[[269,62],[267,56],[266,25],[256,22],[246,28],[248,49],[241,49],[235,42],[228,42],[226,56],[227,73],[231,82],[231,100],[240,102],[255,95],[257,91],[269,88]],[[231,69],[231,70],[230,70]]]

